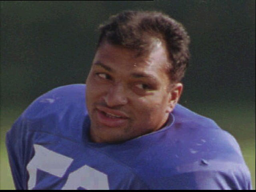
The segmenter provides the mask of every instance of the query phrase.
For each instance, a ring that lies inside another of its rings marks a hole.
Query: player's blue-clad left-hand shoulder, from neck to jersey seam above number
[[[87,116],[85,90],[84,84],[72,84],[38,97],[14,122],[9,137],[15,134],[32,137],[32,133],[44,132],[49,136],[80,139]]]

